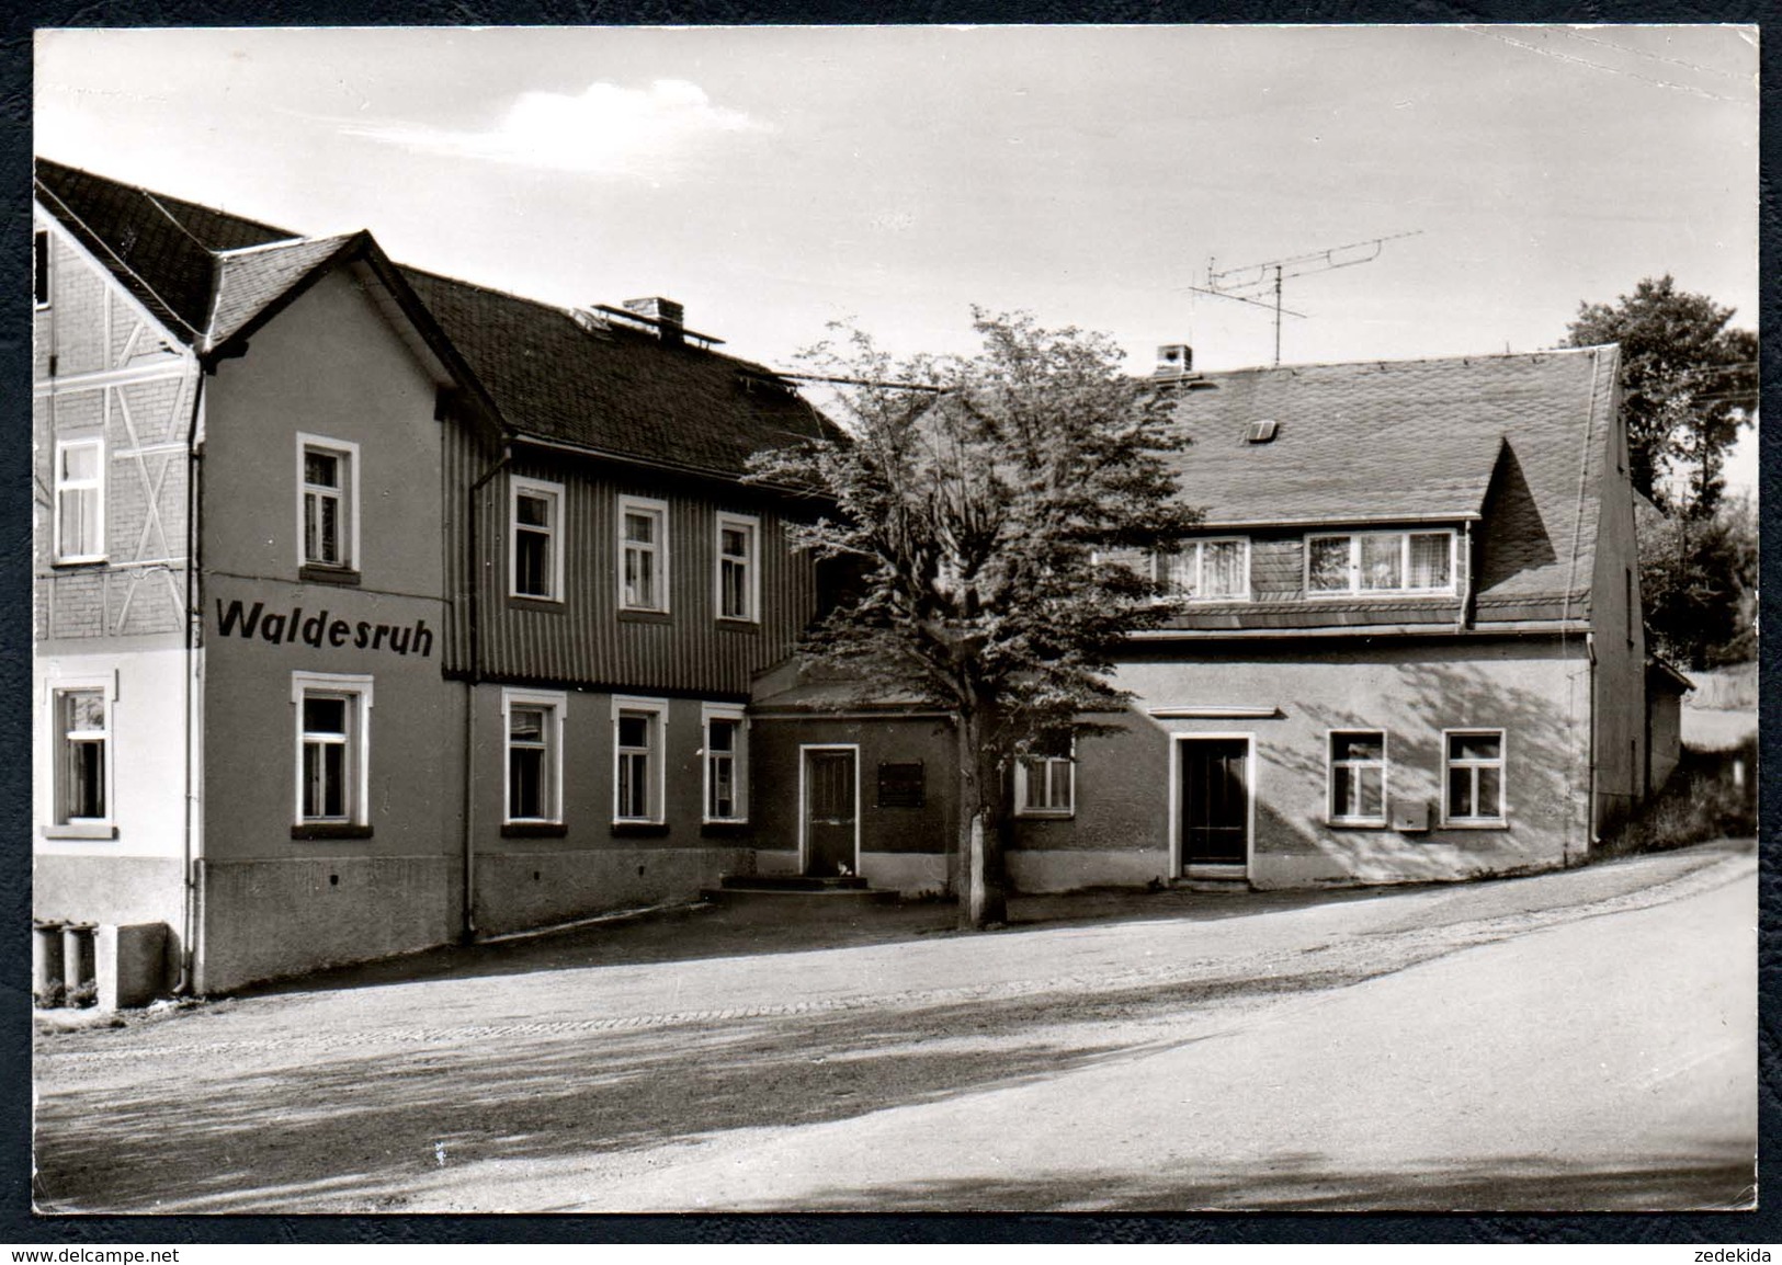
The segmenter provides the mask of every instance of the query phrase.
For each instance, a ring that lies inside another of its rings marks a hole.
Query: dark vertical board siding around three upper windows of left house
[[[447,581],[465,593],[469,488],[499,454],[463,426],[447,428]],[[508,597],[508,479],[563,485],[563,602]],[[668,616],[618,611],[618,497],[668,502]],[[720,624],[715,611],[718,511],[759,518],[761,622]],[[750,679],[789,654],[816,609],[813,565],[789,554],[784,522],[761,492],[650,476],[577,456],[540,456],[517,445],[510,470],[478,495],[479,657],[492,681],[554,682],[634,693],[745,698]],[[446,670],[470,670],[469,608],[458,597]]]

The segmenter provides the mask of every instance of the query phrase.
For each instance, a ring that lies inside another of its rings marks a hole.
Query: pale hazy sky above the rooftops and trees
[[[1755,80],[1748,27],[86,29],[37,32],[34,141],[781,369],[978,305],[1148,372],[1271,363],[1196,287],[1301,257],[1285,363],[1534,351],[1663,273],[1755,328]]]

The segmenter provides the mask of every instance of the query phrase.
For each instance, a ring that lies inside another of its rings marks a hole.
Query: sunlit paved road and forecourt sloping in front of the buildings
[[[39,1208],[1746,1197],[1748,845],[1034,905],[1085,907],[964,937],[921,910],[841,932],[697,914],[43,1037]]]

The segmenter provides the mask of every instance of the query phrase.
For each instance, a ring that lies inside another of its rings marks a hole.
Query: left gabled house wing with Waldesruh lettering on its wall
[[[200,992],[745,869],[816,608],[677,305],[563,310],[37,164],[36,914]]]

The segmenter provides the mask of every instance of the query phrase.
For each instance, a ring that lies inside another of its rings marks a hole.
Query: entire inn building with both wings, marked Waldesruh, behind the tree
[[[952,718],[789,657],[822,508],[748,460],[834,431],[784,378],[668,299],[560,308],[46,160],[36,228],[37,918],[162,925],[221,992],[723,877],[950,884]],[[1173,613],[1123,713],[1012,770],[1014,884],[1584,859],[1677,741],[1616,355],[1178,355],[1201,524],[1107,559]]]

